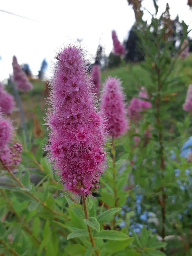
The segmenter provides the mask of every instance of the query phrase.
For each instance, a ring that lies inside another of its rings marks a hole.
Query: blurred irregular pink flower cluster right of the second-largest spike
[[[145,91],[145,88],[142,86],[141,91],[139,92],[139,98],[148,99],[147,92]],[[147,102],[143,99],[138,98],[132,98],[130,105],[128,107],[128,113],[129,117],[132,120],[140,120],[142,118],[141,111],[144,111],[146,109],[150,109],[152,107],[150,102]]]

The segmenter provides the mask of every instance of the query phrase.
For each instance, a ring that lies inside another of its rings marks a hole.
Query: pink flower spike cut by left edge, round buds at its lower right
[[[10,120],[5,119],[0,112],[0,161],[3,167],[17,165],[21,161],[22,145],[16,143],[10,147],[9,143],[13,137],[13,126]]]

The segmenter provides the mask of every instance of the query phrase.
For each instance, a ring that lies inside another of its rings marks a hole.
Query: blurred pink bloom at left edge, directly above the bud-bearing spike
[[[2,113],[10,114],[15,106],[14,98],[10,95],[0,83],[0,108]]]

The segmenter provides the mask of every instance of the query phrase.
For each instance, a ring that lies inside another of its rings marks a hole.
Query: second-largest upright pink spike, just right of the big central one
[[[114,137],[125,134],[129,129],[124,100],[121,81],[118,78],[108,77],[102,91],[101,108],[109,118],[107,129]]]

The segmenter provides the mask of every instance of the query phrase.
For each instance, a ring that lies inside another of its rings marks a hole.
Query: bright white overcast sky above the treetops
[[[191,29],[187,0],[159,0],[158,13],[165,10],[167,2],[171,18],[179,14]],[[143,6],[154,13],[152,0],[143,0]],[[135,19],[127,0],[4,0],[0,9],[37,20],[0,12],[0,80],[12,73],[13,55],[19,64],[29,63],[33,74],[38,74],[43,58],[50,63],[61,46],[77,38],[83,38],[88,56],[96,53],[100,38],[109,54],[113,47],[111,31],[115,29],[122,42]],[[144,19],[150,19],[146,11]]]

